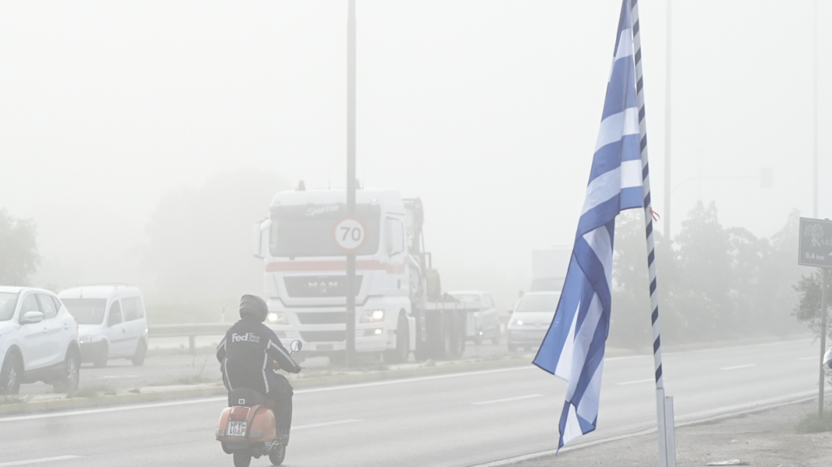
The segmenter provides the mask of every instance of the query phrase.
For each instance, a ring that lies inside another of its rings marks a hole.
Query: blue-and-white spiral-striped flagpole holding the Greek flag
[[[644,221],[647,240],[647,269],[650,274],[650,307],[653,324],[653,361],[656,368],[656,420],[658,422],[659,465],[676,467],[676,443],[673,435],[673,399],[665,397],[661,371],[661,338],[659,332],[659,299],[656,294],[656,245],[653,240],[653,209],[650,197],[650,166],[647,164],[647,125],[644,110],[644,80],[641,70],[641,31],[638,22],[638,0],[631,0],[633,46],[636,49],[636,91],[638,92],[638,128],[641,141],[641,176],[644,194]],[[669,418],[669,420],[668,420]],[[669,426],[668,426],[669,425]]]

